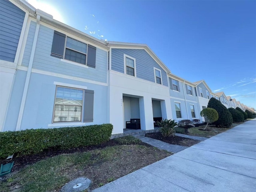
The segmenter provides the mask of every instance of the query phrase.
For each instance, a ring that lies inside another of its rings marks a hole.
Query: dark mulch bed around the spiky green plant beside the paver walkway
[[[181,146],[187,146],[187,147],[190,147],[190,146],[195,145],[200,142],[199,140],[194,140],[194,139],[179,137],[179,136],[163,137],[161,132],[147,133],[146,137],[157,139],[157,140],[169,143],[169,144],[181,145]]]

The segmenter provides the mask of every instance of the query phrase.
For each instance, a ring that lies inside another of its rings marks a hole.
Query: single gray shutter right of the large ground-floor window
[[[83,122],[93,122],[94,91],[84,90],[84,119]]]

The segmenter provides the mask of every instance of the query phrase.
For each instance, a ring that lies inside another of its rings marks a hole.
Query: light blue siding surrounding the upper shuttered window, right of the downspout
[[[60,61],[59,58],[50,56],[52,49],[54,30],[40,26],[33,68],[58,74],[95,80],[98,82],[107,81],[107,52],[96,48],[96,68],[84,68]],[[24,62],[28,58],[24,58]]]

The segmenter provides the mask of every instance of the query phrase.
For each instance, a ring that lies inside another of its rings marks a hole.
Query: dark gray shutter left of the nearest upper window
[[[54,31],[52,41],[51,56],[57,58],[63,58],[64,46],[65,46],[66,35],[58,31]]]

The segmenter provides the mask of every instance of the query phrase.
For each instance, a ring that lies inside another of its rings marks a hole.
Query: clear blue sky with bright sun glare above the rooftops
[[[256,108],[256,1],[28,2],[98,39],[148,44],[173,74]]]

